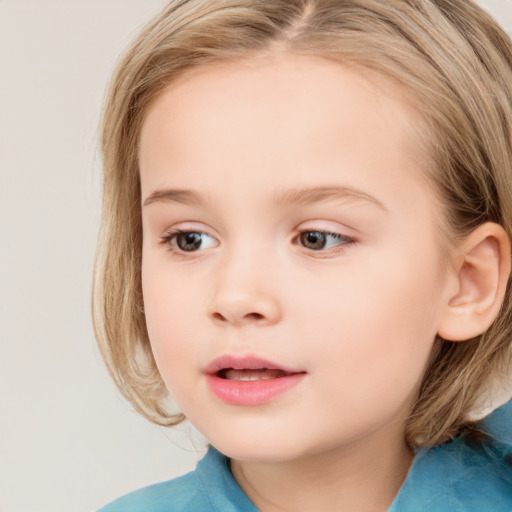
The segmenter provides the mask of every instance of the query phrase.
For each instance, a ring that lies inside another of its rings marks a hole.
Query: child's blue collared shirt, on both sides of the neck
[[[464,436],[419,451],[388,512],[512,512],[512,402]],[[185,476],[123,496],[99,512],[257,512],[214,448]]]

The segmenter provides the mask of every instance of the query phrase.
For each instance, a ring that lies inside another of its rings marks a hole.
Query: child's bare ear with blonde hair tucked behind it
[[[454,280],[437,334],[464,341],[485,332],[500,311],[510,276],[510,240],[492,222],[482,224],[462,242],[455,258]]]

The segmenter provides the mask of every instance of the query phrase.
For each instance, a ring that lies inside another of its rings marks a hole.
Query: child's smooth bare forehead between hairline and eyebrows
[[[417,117],[397,85],[327,59],[209,64],[173,82],[146,113],[143,194],[169,181],[228,190],[241,176],[248,193],[262,178],[267,188],[331,185],[337,176],[320,167],[348,171],[357,187],[366,168],[384,172],[383,161],[417,167]]]

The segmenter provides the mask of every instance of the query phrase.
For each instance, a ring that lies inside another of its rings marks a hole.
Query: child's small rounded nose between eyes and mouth
[[[251,258],[252,260],[252,258]],[[249,261],[226,262],[218,269],[214,294],[208,310],[218,325],[273,325],[282,317],[276,281],[268,272],[268,264]]]

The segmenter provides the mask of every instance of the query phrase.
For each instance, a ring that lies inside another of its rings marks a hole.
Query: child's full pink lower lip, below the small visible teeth
[[[295,387],[304,373],[294,373],[277,379],[228,380],[217,375],[208,375],[208,386],[212,393],[231,405],[263,405]]]

